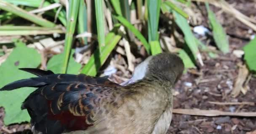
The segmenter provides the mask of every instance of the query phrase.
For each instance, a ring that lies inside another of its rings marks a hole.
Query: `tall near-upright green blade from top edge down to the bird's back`
[[[69,62],[69,54],[73,41],[73,34],[75,32],[75,26],[77,23],[77,15],[79,8],[80,0],[69,0],[69,14],[67,20],[67,32],[65,36],[65,47],[64,47],[64,64],[62,66],[62,73],[67,72],[67,66]]]

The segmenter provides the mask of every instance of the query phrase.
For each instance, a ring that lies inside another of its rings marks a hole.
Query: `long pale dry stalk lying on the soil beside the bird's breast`
[[[173,113],[187,114],[193,116],[243,116],[243,117],[256,117],[256,112],[224,112],[219,110],[200,110],[200,109],[173,109]]]

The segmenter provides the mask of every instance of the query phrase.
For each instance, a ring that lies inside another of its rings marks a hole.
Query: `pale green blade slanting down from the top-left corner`
[[[25,18],[25,19],[27,19],[29,21],[32,21],[33,23],[36,23],[37,25],[40,25],[40,26],[50,27],[50,28],[53,28],[53,27],[56,26],[51,21],[47,21],[43,18],[40,18],[37,15],[29,13],[26,10],[23,10],[23,9],[21,9],[21,8],[11,4],[11,3],[7,3],[3,0],[0,0],[0,9],[11,12],[15,15],[18,15],[21,18]]]

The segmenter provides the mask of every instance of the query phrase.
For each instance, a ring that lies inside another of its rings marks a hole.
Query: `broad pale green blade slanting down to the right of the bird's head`
[[[188,45],[190,51],[192,52],[195,59],[197,59],[197,54],[199,54],[198,44],[195,40],[195,36],[192,33],[187,20],[181,16],[179,13],[173,10],[175,16],[175,22],[181,28],[181,31],[184,33],[186,44]]]

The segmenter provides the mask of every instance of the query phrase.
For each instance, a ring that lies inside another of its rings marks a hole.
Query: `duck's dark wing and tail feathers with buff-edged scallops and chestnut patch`
[[[21,70],[39,77],[18,80],[0,90],[37,88],[26,98],[22,109],[27,109],[34,129],[43,134],[61,134],[93,126],[95,114],[104,113],[105,102],[102,103],[102,100],[115,103],[112,90],[120,86],[107,77],[54,74],[38,69]]]

